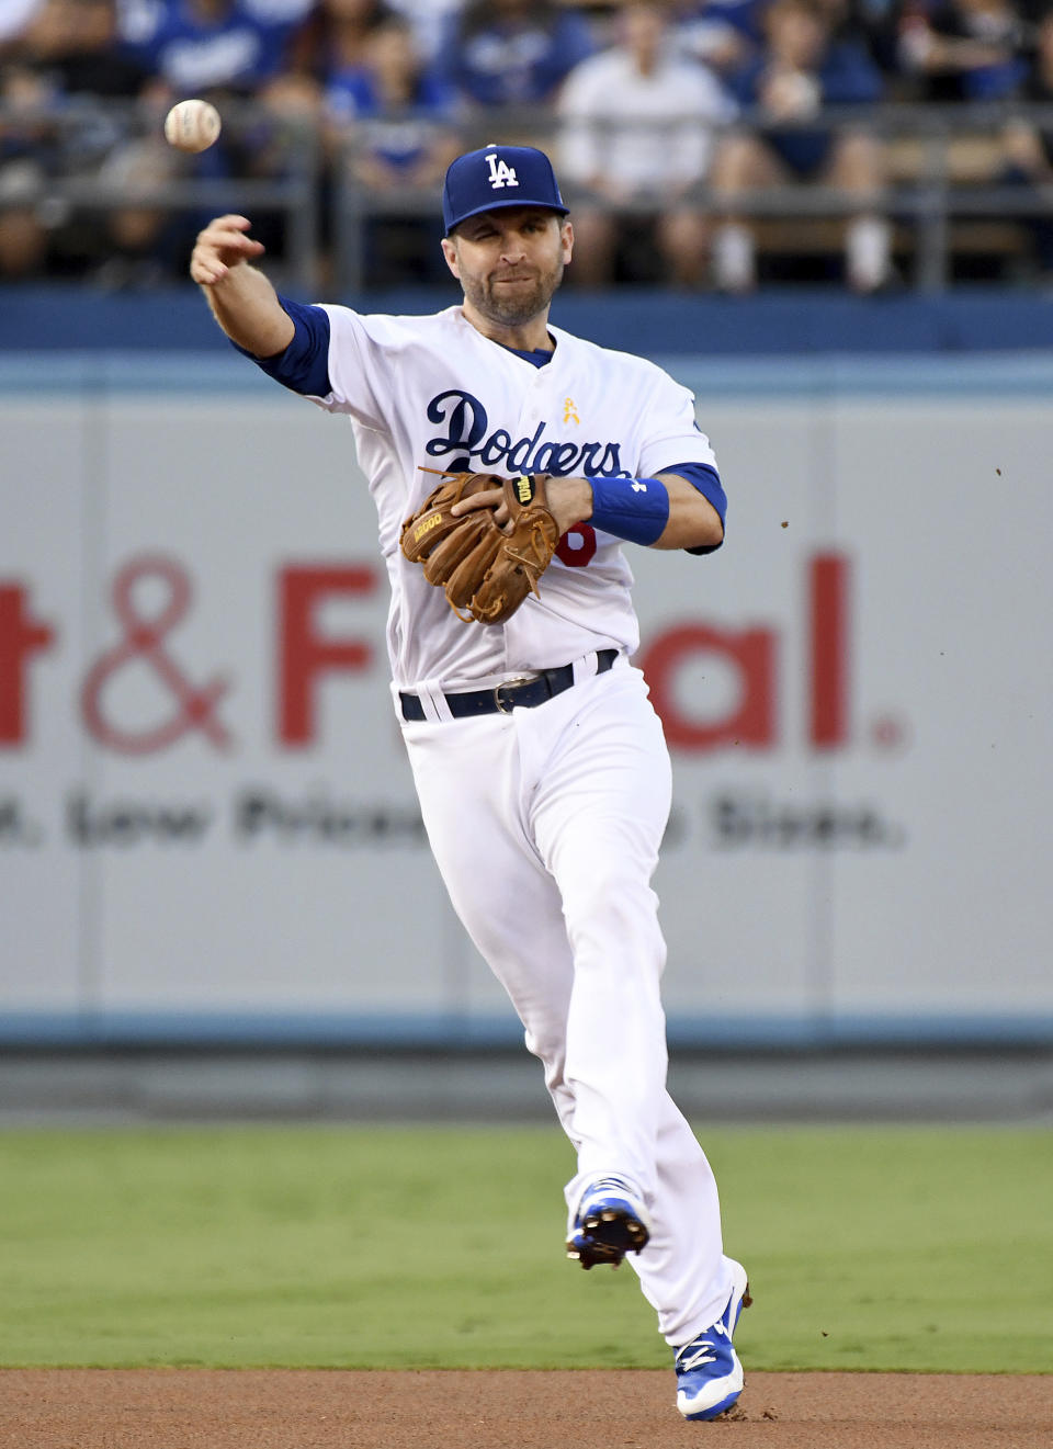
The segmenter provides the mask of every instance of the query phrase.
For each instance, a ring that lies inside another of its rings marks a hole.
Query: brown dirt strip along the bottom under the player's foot
[[[752,1374],[685,1424],[672,1375],[4,1369],[4,1449],[1047,1449],[1053,1377]]]

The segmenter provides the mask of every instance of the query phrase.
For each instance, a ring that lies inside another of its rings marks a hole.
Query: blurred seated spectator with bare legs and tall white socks
[[[734,77],[737,99],[753,110],[758,129],[729,136],[713,167],[713,191],[726,212],[714,238],[717,285],[749,291],[758,280],[753,233],[736,216],[736,200],[765,187],[821,180],[859,199],[844,235],[846,275],[855,291],[876,291],[891,277],[891,229],[876,212],[882,148],[865,126],[833,130],[818,116],[823,106],[878,101],[881,72],[859,43],[833,39],[813,0],[772,0],[765,35],[765,54]]]

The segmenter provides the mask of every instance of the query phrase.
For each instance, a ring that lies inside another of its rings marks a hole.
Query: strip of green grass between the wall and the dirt
[[[747,1368],[1053,1366],[1053,1133],[705,1135]],[[0,1364],[666,1366],[559,1133],[0,1133]]]

